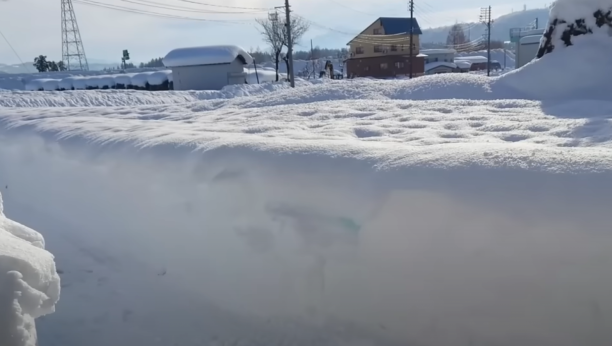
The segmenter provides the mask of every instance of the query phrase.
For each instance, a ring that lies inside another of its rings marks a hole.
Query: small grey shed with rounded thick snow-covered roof
[[[245,84],[244,68],[253,64],[253,58],[240,47],[226,45],[178,48],[163,62],[172,70],[174,90],[220,90]]]

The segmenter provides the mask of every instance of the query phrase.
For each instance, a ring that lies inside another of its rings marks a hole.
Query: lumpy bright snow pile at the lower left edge
[[[36,231],[4,215],[0,194],[0,345],[35,346],[34,319],[53,313],[60,279]]]

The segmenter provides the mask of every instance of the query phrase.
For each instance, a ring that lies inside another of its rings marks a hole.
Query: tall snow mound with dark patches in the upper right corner
[[[533,99],[609,99],[612,3],[559,0],[534,61],[500,77]]]

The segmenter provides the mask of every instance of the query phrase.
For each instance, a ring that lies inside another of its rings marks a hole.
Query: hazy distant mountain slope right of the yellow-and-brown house
[[[495,19],[494,23],[491,25],[491,40],[508,41],[510,40],[510,29],[527,27],[534,23],[536,18],[538,19],[538,26],[543,28],[548,22],[549,11],[548,8],[539,8],[503,15]],[[469,30],[465,30],[466,36],[469,35],[472,40],[481,37],[485,33],[484,24],[466,23],[465,26],[469,27]],[[421,42],[446,43],[446,36],[449,30],[450,26],[424,29],[423,35],[421,36]]]

